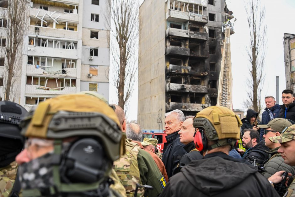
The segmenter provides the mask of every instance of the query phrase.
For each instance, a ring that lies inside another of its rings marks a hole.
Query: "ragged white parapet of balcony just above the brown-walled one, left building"
[[[43,67],[44,68],[44,67]],[[48,77],[57,77],[57,76],[63,76],[63,77],[77,77],[77,68],[64,68],[62,69],[62,66],[55,69],[50,68],[36,68],[35,65],[27,65],[26,74],[27,75],[46,75]],[[62,72],[64,70],[64,72]]]

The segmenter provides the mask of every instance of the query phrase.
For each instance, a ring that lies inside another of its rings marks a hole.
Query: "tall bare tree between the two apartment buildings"
[[[105,16],[110,28],[112,80],[118,94],[118,105],[126,113],[138,67],[138,3],[134,0],[108,0]]]

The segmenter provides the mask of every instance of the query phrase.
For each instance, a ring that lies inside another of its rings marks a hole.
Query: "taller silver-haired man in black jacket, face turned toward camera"
[[[166,140],[164,143],[162,161],[165,165],[168,178],[172,176],[172,172],[177,167],[181,157],[186,151],[183,149],[184,144],[180,142],[178,131],[181,129],[185,116],[182,111],[175,109],[165,113],[165,130]]]

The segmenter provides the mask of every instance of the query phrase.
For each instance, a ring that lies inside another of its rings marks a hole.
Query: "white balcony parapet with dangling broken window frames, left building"
[[[39,14],[38,14],[39,12]],[[56,20],[59,21],[67,21],[68,23],[78,23],[79,22],[79,18],[78,18],[78,14],[64,14],[64,13],[57,13],[57,12],[51,12],[51,11],[47,11],[44,9],[38,9],[38,8],[30,8],[30,15],[31,16],[36,16],[38,14],[39,18],[42,18],[44,15],[44,20],[46,21],[46,19],[50,19],[52,20],[48,15],[51,15],[52,18],[56,18],[58,17]],[[47,15],[48,14],[48,15]]]

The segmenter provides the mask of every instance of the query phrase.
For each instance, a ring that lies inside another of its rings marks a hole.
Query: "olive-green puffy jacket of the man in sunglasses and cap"
[[[264,161],[263,169],[266,172],[262,172],[262,175],[265,178],[270,178],[274,173],[279,172],[281,170],[285,170],[287,172],[291,172],[291,174],[295,174],[295,167],[289,166],[284,162],[281,153],[278,153],[279,147],[275,149],[271,149],[268,153],[270,154],[270,159]]]

